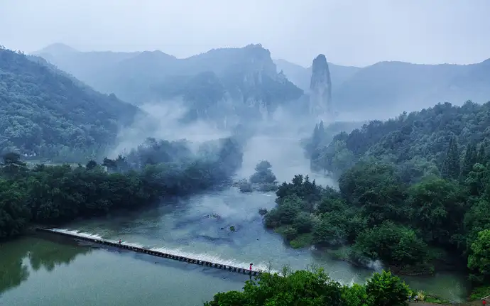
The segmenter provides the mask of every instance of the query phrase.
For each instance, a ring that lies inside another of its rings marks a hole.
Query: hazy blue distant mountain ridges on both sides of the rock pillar
[[[236,122],[266,118],[278,106],[300,110],[307,104],[304,94],[309,94],[312,76],[311,67],[272,60],[261,45],[213,49],[185,59],[161,51],[83,53],[64,45],[36,54],[133,104],[181,97],[190,107],[188,119],[226,117],[224,121]],[[334,111],[342,120],[386,119],[437,103],[490,100],[490,60],[473,65],[328,66]]]

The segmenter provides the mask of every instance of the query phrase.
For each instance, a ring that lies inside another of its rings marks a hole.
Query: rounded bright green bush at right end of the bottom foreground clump
[[[366,293],[372,298],[372,305],[398,306],[406,305],[410,290],[397,276],[389,271],[374,273],[366,284]]]

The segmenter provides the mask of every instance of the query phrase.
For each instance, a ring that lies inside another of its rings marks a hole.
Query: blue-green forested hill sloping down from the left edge
[[[46,64],[0,49],[1,153],[95,157],[138,108]]]

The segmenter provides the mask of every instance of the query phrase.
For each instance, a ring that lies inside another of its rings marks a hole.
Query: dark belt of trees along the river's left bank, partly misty
[[[21,234],[30,224],[60,224],[205,190],[229,180],[242,158],[233,138],[205,143],[195,154],[183,142],[148,139],[128,156],[75,168],[28,168],[18,153],[6,153],[0,173],[0,239]]]

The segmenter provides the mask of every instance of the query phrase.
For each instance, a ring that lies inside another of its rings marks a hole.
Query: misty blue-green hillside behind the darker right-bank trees
[[[438,173],[454,136],[458,154],[468,145],[482,143],[490,137],[490,103],[466,102],[462,106],[437,104],[429,109],[403,113],[388,121],[371,121],[351,133],[339,133],[330,143],[317,131],[315,151],[310,151],[312,167],[343,173],[359,160],[370,158],[408,168]]]

